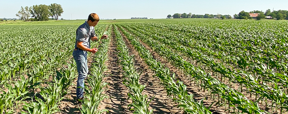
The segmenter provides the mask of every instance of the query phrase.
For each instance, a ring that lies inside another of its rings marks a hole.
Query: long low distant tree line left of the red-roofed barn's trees
[[[205,15],[197,15],[197,14],[192,14],[192,13],[175,13],[173,16],[168,15],[167,18],[222,18],[222,19],[231,19],[232,17],[230,15],[213,15],[213,14],[205,14]]]

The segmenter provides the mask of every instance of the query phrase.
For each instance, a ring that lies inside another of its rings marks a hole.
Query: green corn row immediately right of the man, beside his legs
[[[98,38],[100,38],[99,36],[100,34],[103,35],[103,31],[97,30],[97,32],[99,32]],[[111,26],[110,29],[108,29],[108,33],[111,33]],[[94,56],[94,61],[96,62],[92,63],[91,68],[89,69],[91,71],[87,79],[89,85],[85,85],[84,87],[85,95],[82,100],[82,109],[79,107],[82,114],[101,114],[105,111],[108,112],[106,109],[99,110],[98,108],[100,102],[107,98],[107,96],[103,94],[103,91],[108,83],[104,82],[103,78],[105,77],[105,71],[107,71],[105,62],[108,60],[108,46],[111,38],[99,40],[97,43],[100,43],[100,41],[101,47],[98,48],[98,51]]]

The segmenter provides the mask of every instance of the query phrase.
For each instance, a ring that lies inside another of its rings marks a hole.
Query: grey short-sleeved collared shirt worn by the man
[[[89,26],[87,21],[78,27],[76,30],[75,48],[77,48],[77,41],[83,42],[82,44],[90,48],[90,40],[95,37],[95,30],[93,26]]]

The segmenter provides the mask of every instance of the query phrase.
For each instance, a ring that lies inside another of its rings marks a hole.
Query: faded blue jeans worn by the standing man
[[[78,80],[76,88],[76,98],[82,98],[84,93],[84,79],[88,74],[87,52],[82,50],[73,50],[73,58],[76,61]]]

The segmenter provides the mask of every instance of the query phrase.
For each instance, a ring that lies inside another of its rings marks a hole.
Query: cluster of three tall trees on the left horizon
[[[58,20],[58,17],[63,13],[62,6],[60,4],[45,4],[33,5],[31,7],[22,7],[16,14],[20,20],[24,21],[48,21],[51,16],[52,19]],[[32,17],[32,18],[29,18]],[[62,20],[62,19],[61,19]]]

